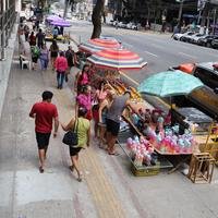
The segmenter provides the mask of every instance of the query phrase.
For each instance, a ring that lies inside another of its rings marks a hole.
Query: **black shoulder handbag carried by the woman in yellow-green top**
[[[76,120],[75,122],[76,122],[76,128],[75,128],[75,124],[74,124],[73,130],[68,131],[64,134],[63,140],[62,140],[62,143],[71,146],[71,147],[74,147],[78,144],[78,137],[77,137],[78,120]]]

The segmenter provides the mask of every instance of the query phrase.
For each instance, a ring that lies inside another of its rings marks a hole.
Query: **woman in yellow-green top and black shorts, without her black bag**
[[[72,165],[69,167],[71,171],[74,169],[77,172],[77,181],[82,182],[82,172],[78,168],[78,153],[90,144],[90,121],[86,117],[87,110],[85,108],[78,108],[77,118],[73,118],[68,125],[62,125],[64,131],[74,130],[77,132],[78,143],[77,146],[69,146]]]

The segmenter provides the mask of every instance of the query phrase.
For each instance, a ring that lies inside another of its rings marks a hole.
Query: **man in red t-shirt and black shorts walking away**
[[[52,121],[55,121],[53,137],[56,137],[59,126],[59,120],[57,107],[51,104],[53,94],[49,90],[45,90],[41,97],[43,101],[34,104],[29,112],[29,117],[35,119],[36,141],[38,144],[39,156],[39,171],[43,173],[46,153],[48,149],[49,138],[52,130]]]

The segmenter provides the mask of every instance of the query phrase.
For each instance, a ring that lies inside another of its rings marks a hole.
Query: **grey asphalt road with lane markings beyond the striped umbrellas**
[[[85,41],[92,35],[90,22],[74,22],[71,33],[78,41]],[[148,75],[166,71],[169,66],[186,62],[217,61],[218,50],[197,45],[177,41],[170,34],[130,31],[111,26],[102,26],[102,35],[114,36],[122,45],[137,52],[148,64],[142,71],[126,72],[136,82],[142,82]]]

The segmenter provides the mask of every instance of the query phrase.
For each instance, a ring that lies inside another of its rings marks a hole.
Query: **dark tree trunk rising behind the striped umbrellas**
[[[95,8],[93,9],[92,22],[93,34],[90,38],[99,38],[101,34],[101,16],[104,13],[105,0],[97,0]]]

